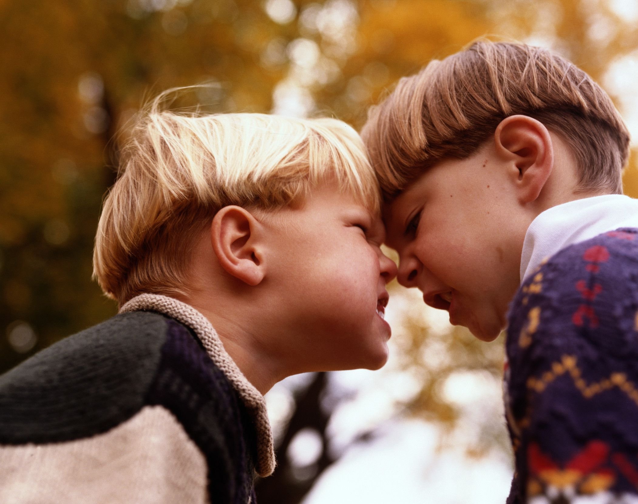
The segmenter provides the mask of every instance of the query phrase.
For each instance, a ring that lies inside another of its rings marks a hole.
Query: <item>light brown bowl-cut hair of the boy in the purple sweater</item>
[[[627,127],[589,75],[540,47],[482,40],[431,61],[371,108],[361,136],[391,200],[437,161],[473,154],[517,114],[567,142],[579,192],[622,193]]]

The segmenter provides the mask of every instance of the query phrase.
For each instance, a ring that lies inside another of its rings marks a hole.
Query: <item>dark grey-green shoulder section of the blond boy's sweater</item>
[[[0,443],[103,433],[135,415],[156,374],[167,319],[116,315],[0,376]]]

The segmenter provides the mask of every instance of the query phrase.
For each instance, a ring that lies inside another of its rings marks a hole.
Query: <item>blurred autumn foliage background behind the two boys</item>
[[[114,315],[91,281],[100,205],[128,122],[169,87],[208,83],[191,101],[209,112],[359,129],[398,78],[490,34],[574,61],[638,138],[638,0],[0,0],[0,33],[0,373]],[[503,336],[480,343],[390,288],[382,371],[267,394],[279,466],[260,504],[505,500]]]

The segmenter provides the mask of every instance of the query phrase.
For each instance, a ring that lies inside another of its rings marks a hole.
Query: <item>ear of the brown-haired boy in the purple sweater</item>
[[[494,132],[496,153],[512,167],[521,203],[535,201],[554,167],[554,148],[547,128],[526,115],[503,119]]]

